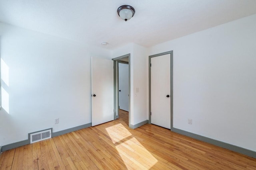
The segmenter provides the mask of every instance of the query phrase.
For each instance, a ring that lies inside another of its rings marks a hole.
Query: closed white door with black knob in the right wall
[[[170,54],[151,58],[151,123],[171,128]]]

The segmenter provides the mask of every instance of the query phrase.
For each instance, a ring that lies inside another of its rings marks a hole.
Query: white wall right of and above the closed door
[[[149,55],[171,50],[174,127],[256,151],[256,15],[155,45]]]

